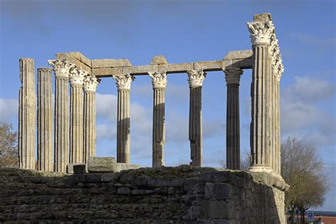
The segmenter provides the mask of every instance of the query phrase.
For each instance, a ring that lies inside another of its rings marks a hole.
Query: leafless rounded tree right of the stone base
[[[322,205],[328,189],[318,148],[311,142],[287,138],[281,145],[281,175],[291,186],[285,193],[286,210],[291,217],[299,212],[301,223],[305,223],[305,212]]]

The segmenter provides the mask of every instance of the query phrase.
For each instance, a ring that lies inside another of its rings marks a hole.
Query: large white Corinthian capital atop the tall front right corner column
[[[252,45],[270,44],[271,35],[274,33],[274,25],[271,21],[247,23],[250,31]]]

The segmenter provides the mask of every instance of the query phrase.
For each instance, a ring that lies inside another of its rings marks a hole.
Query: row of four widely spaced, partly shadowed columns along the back
[[[240,133],[239,133],[239,81],[240,68],[227,68],[225,79],[228,83],[227,115],[227,164],[229,169],[240,169]],[[189,141],[191,165],[202,164],[202,84],[206,78],[203,70],[187,72],[190,89],[189,105]],[[164,166],[164,89],[167,85],[166,72],[150,72],[153,88],[152,123],[152,167]],[[117,111],[117,162],[130,162],[130,84],[134,77],[130,74],[113,76],[118,88]],[[232,108],[231,108],[232,107]]]

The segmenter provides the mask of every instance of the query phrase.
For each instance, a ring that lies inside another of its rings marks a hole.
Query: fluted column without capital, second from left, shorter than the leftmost
[[[38,170],[52,171],[51,69],[38,69]]]

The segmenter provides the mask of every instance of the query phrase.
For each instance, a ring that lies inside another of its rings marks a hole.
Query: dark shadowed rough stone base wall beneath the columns
[[[284,223],[284,191],[189,165],[65,175],[0,169],[0,223]]]

